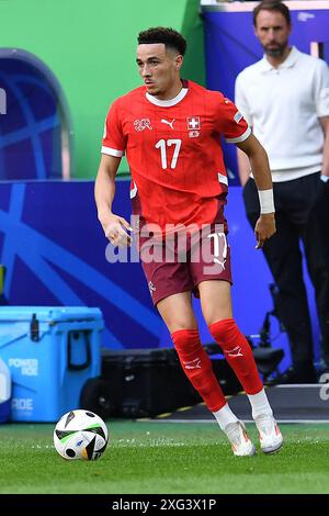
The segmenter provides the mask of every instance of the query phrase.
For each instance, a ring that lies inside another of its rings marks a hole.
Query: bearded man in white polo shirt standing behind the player
[[[321,358],[328,368],[328,243],[314,213],[318,200],[329,192],[329,70],[321,59],[288,45],[292,25],[284,3],[258,4],[253,24],[264,57],[237,77],[236,104],[266,149],[272,171],[277,232],[263,253],[279,287],[279,315],[292,351],[292,368],[279,380],[313,382],[311,324],[299,240],[315,287]],[[241,152],[238,165],[247,216],[254,227],[258,195],[249,160]]]

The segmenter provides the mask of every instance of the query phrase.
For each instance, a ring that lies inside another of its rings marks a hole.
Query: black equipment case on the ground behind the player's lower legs
[[[205,346],[218,352],[218,346]],[[241,385],[223,358],[213,368],[224,394],[236,394]],[[102,373],[87,382],[82,408],[101,417],[148,417],[202,402],[185,377],[174,348],[102,351]]]

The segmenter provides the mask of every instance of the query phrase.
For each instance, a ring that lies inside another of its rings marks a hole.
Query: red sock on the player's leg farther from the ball
[[[218,321],[209,332],[222,347],[225,358],[235,371],[247,394],[257,394],[263,389],[251,348],[234,318]]]

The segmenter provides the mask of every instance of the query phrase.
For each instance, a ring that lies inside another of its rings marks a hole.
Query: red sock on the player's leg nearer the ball
[[[171,334],[181,366],[211,412],[219,411],[226,400],[204,350],[197,329],[178,329]]]

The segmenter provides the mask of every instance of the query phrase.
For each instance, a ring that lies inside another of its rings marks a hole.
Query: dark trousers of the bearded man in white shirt
[[[288,335],[293,367],[310,366],[314,356],[300,239],[315,288],[321,355],[329,364],[329,195],[319,173],[273,183],[273,190],[276,233],[265,242],[263,254],[279,288],[279,317]],[[243,200],[253,228],[260,207],[251,178],[243,188]]]

